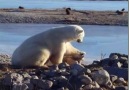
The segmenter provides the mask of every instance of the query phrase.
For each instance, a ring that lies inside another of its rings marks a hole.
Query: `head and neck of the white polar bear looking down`
[[[66,42],[77,41],[83,42],[85,36],[84,30],[79,25],[67,25],[61,27],[52,28],[52,35],[63,39]],[[55,34],[54,34],[55,33]]]

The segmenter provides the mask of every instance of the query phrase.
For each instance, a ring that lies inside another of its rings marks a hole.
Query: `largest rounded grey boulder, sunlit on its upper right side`
[[[109,73],[106,70],[94,71],[91,76],[100,85],[106,85],[110,81]]]

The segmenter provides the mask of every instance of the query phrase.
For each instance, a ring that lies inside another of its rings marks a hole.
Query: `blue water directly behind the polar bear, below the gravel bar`
[[[0,53],[12,54],[28,37],[63,24],[0,24]],[[86,61],[99,60],[101,53],[128,54],[127,26],[81,25],[86,36],[83,43],[72,44],[86,52]]]

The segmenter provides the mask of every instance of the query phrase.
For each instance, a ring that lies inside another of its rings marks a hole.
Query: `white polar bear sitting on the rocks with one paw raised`
[[[84,30],[79,25],[56,27],[34,35],[14,51],[12,64],[44,66],[50,60],[52,64],[58,65],[63,62],[65,56],[70,56],[72,53],[77,53],[75,56],[80,54],[80,51],[74,48],[70,42],[82,42],[84,35]]]

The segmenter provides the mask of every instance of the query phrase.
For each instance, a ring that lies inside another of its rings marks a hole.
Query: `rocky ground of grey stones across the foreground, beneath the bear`
[[[0,90],[128,90],[128,56],[111,53],[90,65],[76,62],[18,68],[0,55]]]

